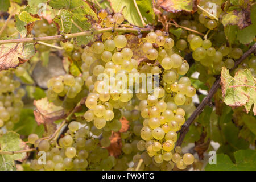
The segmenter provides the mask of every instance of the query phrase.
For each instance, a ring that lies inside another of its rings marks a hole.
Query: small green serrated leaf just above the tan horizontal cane
[[[60,31],[63,31],[64,33],[69,33],[72,28],[72,15],[73,14],[68,10],[61,10],[60,15],[57,15],[53,19],[53,22],[58,24]]]

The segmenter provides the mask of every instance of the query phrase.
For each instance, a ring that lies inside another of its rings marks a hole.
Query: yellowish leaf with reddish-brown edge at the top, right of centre
[[[172,13],[178,13],[180,11],[191,12],[197,9],[197,1],[196,0],[181,0],[181,1],[159,0],[158,6]]]

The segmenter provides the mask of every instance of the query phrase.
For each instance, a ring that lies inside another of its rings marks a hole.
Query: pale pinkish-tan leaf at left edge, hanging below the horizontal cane
[[[16,68],[36,53],[34,43],[9,43],[0,45],[0,71]]]

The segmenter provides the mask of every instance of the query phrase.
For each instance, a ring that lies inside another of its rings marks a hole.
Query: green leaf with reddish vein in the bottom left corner
[[[0,137],[0,151],[13,152],[24,150],[26,144],[19,138],[19,134],[9,131]],[[0,154],[0,170],[15,170],[14,160],[22,160],[27,154]]]

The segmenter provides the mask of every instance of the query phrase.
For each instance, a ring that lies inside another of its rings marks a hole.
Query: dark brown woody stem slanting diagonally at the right
[[[256,53],[256,43],[248,50],[246,51],[240,59],[238,59],[234,67],[230,69],[230,72],[234,71],[238,67],[240,63],[242,63],[243,60],[246,59],[251,53]],[[177,140],[176,146],[181,146],[185,135],[187,134],[189,130],[189,126],[192,124],[192,122],[196,119],[196,117],[204,110],[204,107],[209,104],[210,100],[212,99],[213,95],[217,92],[218,88],[220,87],[221,78],[220,75],[217,76],[217,80],[214,82],[212,88],[210,88],[208,95],[203,99],[203,101],[199,104],[199,106],[196,108],[196,110],[191,114],[191,116],[187,119],[187,121],[184,123],[184,125],[181,127],[180,130],[180,136]]]

